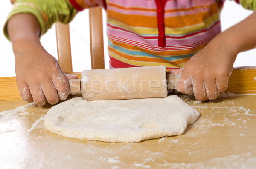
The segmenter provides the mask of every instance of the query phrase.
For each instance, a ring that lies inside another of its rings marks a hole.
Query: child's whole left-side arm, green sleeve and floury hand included
[[[55,104],[69,94],[67,80],[77,78],[61,71],[57,60],[41,46],[39,36],[52,24],[69,23],[77,14],[69,0],[17,0],[3,31],[12,41],[16,81],[27,102]]]

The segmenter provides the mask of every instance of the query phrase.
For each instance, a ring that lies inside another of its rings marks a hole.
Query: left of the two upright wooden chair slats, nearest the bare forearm
[[[57,22],[55,23],[55,28],[57,39],[58,63],[63,72],[73,72],[69,25]]]

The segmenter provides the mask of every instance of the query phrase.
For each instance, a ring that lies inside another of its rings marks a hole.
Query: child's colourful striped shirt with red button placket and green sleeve
[[[110,67],[164,65],[167,69],[173,69],[183,67],[221,32],[219,11],[223,2],[224,0],[17,0],[15,8],[18,11],[16,13],[19,13],[22,8],[25,11],[24,6],[29,6],[28,12],[38,18],[43,34],[57,20],[70,22],[77,11],[102,6],[107,14]],[[15,14],[15,8],[9,17]]]

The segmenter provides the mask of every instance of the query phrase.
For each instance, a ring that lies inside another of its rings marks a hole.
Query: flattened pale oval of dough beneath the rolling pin
[[[177,95],[97,101],[76,97],[49,109],[44,125],[65,137],[129,143],[180,135],[199,115]]]

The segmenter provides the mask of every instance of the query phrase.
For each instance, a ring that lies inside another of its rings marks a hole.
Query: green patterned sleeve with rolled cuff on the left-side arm
[[[78,12],[68,0],[17,0],[3,27],[4,35],[9,40],[7,22],[13,15],[18,13],[33,14],[40,24],[41,36],[52,27],[53,23],[57,21],[69,23]]]

